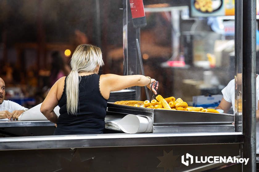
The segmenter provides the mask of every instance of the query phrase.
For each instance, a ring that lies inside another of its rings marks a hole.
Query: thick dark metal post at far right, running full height
[[[256,171],[256,0],[243,1],[243,158],[249,158],[243,164],[243,171]]]

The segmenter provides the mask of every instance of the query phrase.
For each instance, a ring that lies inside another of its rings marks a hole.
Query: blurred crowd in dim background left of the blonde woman
[[[70,72],[59,51],[51,53],[49,68],[44,70],[37,70],[35,66],[28,68],[24,74],[12,63],[2,64],[0,76],[6,83],[6,99],[29,108],[41,103],[49,88],[60,77],[67,76]]]

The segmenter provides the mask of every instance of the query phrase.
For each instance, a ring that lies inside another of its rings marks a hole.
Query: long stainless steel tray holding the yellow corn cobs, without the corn
[[[107,115],[146,115],[153,118],[153,133],[234,132],[235,115],[172,111],[108,103]]]

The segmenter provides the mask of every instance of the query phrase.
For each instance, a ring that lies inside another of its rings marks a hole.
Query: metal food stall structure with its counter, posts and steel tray
[[[132,2],[131,2],[132,3]],[[255,171],[254,1],[235,2],[235,76],[242,73],[242,104],[234,115],[171,111],[108,104],[107,114],[145,115],[153,132],[144,134],[38,135],[0,138],[2,171]],[[252,21],[252,22],[251,22]],[[241,27],[242,26],[242,27]],[[242,35],[242,36],[240,36]],[[131,22],[130,1],[123,0],[125,74],[139,74],[140,28]],[[137,38],[137,39],[136,39]],[[140,89],[136,99],[140,97]],[[237,106],[239,107],[239,106]],[[242,107],[242,106],[241,106]],[[235,122],[235,125],[232,123]],[[50,126],[44,121],[0,122],[2,128]],[[41,128],[43,129],[43,128]],[[5,129],[3,129],[5,130]],[[226,156],[228,162],[194,162],[194,157]],[[237,159],[249,158],[247,165]]]

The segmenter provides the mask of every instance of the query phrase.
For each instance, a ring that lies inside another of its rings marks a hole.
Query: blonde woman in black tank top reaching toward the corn
[[[156,80],[143,75],[98,75],[104,65],[101,49],[88,44],[79,45],[71,58],[72,71],[51,87],[40,111],[57,124],[54,135],[102,134],[105,128],[107,100],[111,91],[132,86],[147,86]],[[157,89],[157,88],[156,88]],[[60,106],[57,117],[54,108]]]

